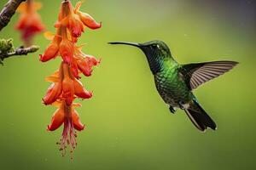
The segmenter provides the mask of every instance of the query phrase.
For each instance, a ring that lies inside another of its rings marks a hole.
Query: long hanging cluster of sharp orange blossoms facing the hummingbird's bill
[[[79,8],[81,2],[73,8],[70,1],[61,3],[61,10],[58,20],[55,23],[56,33],[46,32],[44,35],[52,40],[45,49],[44,54],[40,55],[42,62],[55,59],[61,56],[62,61],[58,71],[46,77],[46,81],[51,82],[47,94],[44,96],[44,105],[55,105],[59,109],[55,111],[49,131],[54,131],[64,124],[60,150],[65,154],[67,145],[73,152],[76,146],[75,130],[81,131],[84,125],[79,121],[79,115],[74,110],[79,104],[74,104],[76,98],[90,99],[92,94],[87,91],[79,81],[79,73],[85,77],[90,77],[92,67],[98,65],[100,60],[93,56],[84,54],[82,46],[76,46],[78,38],[84,32],[85,27],[90,29],[100,28],[102,25],[97,23],[89,14],[82,13]]]

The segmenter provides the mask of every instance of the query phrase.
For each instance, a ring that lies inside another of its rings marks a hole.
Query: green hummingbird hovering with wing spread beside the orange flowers
[[[220,60],[204,63],[181,65],[172,57],[170,48],[165,42],[154,40],[150,42],[108,42],[109,44],[125,44],[140,48],[146,55],[150,71],[160,97],[169,105],[169,110],[175,113],[177,109],[185,111],[195,127],[204,132],[208,127],[216,130],[216,123],[199,105],[193,90],[204,82],[230,71],[236,61]]]

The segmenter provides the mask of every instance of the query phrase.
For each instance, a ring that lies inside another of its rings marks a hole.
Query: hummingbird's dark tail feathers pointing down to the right
[[[191,122],[193,122],[195,127],[199,130],[205,131],[207,127],[212,128],[212,130],[216,130],[217,126],[215,122],[212,121],[212,118],[207,115],[207,112],[204,111],[195,100],[192,100],[189,107],[184,110],[189,116]]]

